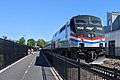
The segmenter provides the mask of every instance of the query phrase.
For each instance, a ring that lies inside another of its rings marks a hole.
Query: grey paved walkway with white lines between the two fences
[[[34,52],[33,55],[27,55],[0,70],[0,80],[62,80],[62,78],[43,53]]]

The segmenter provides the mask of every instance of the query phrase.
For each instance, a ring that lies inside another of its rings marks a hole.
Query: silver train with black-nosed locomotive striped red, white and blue
[[[104,55],[102,21],[92,15],[74,16],[53,35],[45,48],[72,59],[94,61]]]

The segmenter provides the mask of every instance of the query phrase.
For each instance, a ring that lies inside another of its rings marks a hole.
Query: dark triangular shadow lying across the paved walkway
[[[45,59],[45,56],[43,53],[40,53],[40,55],[38,57],[36,57],[35,65],[36,66],[43,66],[43,67],[52,67],[52,66],[48,65],[48,62]]]

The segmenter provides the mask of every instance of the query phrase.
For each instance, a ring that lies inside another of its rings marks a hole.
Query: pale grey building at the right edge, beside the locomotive
[[[106,55],[120,59],[120,12],[107,12]]]

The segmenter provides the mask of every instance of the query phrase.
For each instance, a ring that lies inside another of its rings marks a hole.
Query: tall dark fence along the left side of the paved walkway
[[[27,55],[28,46],[0,39],[0,69]]]

